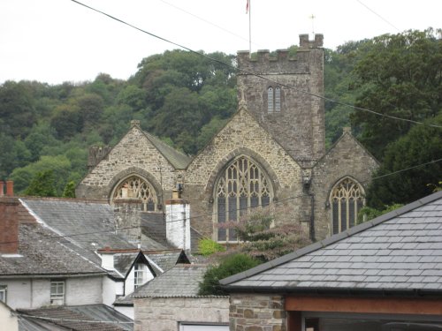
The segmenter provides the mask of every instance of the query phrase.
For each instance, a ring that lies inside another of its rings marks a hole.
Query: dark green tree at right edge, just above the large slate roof
[[[442,113],[426,121],[442,126]],[[395,203],[407,204],[431,194],[442,178],[442,129],[416,125],[388,145],[384,162],[367,192],[367,202],[377,209]],[[435,162],[439,160],[439,162]],[[422,166],[419,166],[422,165]],[[419,167],[415,167],[419,166]],[[407,169],[406,171],[402,171]]]

